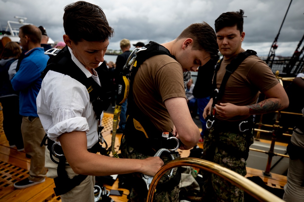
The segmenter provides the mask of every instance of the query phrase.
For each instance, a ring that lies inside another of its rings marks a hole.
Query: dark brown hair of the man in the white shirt
[[[64,7],[63,27],[76,44],[82,40],[104,42],[114,35],[102,9],[84,1]]]

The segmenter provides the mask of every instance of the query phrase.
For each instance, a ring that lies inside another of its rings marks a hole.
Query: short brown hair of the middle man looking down
[[[214,58],[219,52],[219,45],[216,41],[216,34],[210,25],[206,22],[194,23],[178,36],[177,39],[181,38],[192,38],[194,50],[204,50],[210,53],[211,57]]]

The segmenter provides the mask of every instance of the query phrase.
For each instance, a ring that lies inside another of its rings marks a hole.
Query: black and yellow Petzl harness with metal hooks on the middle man
[[[150,121],[150,119],[136,105],[133,98],[132,84],[138,68],[140,68],[140,65],[143,64],[145,60],[155,55],[168,55],[169,57],[174,58],[170,51],[168,51],[168,49],[166,49],[164,46],[150,41],[149,44],[143,46],[142,48],[135,48],[123,67],[121,79],[118,81],[116,102],[118,104],[116,104],[113,119],[112,153],[114,157],[118,157],[118,155],[116,155],[116,151],[114,150],[118,116],[121,111],[121,105],[129,96],[128,109],[126,113],[127,120],[124,132],[125,139],[142,154],[147,154],[149,156],[153,156],[153,154],[154,156],[161,156],[161,154],[166,151],[169,153],[171,159],[174,160],[173,154],[176,153],[174,151],[177,150],[180,145],[179,140],[173,136],[172,132],[159,131]],[[171,170],[168,177],[173,175],[173,171],[174,169]],[[180,178],[180,170],[177,169],[176,174],[167,182],[160,184],[159,187],[162,190],[168,189],[168,187],[175,187],[179,183]],[[142,174],[142,179],[149,190],[153,176]]]

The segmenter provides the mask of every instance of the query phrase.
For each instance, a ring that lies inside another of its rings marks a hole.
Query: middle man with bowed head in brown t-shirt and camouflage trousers
[[[186,102],[183,71],[196,71],[209,61],[210,56],[217,55],[215,32],[205,22],[192,24],[178,38],[160,46],[170,54],[155,55],[145,60],[132,83],[133,96],[128,97],[125,138],[121,144],[125,158],[141,159],[153,156],[159,148],[173,149],[166,144],[158,145],[162,140],[162,132],[170,132],[177,137],[180,149],[188,150],[199,141],[199,128],[193,122]],[[130,109],[130,106],[134,106],[130,105],[132,101],[136,107]],[[135,112],[142,116],[137,118],[133,114]],[[138,134],[139,131],[142,134]],[[168,155],[161,158],[164,162],[170,160]],[[164,175],[159,183],[163,186],[157,188],[154,200],[178,201],[178,177],[180,174],[176,174],[176,169],[172,177]],[[129,201],[145,200],[147,185],[141,176],[134,174],[131,181]],[[163,184],[165,181],[168,183]]]

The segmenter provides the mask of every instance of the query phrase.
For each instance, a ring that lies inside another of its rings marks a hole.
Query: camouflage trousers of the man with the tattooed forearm
[[[202,158],[226,167],[245,176],[246,160],[249,147],[253,144],[252,134],[217,132],[212,127],[204,136],[204,152]],[[232,185],[216,174],[203,171],[205,184],[203,196],[209,201],[244,201],[244,190]]]

